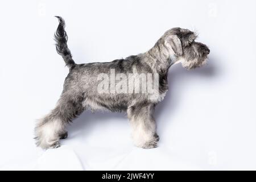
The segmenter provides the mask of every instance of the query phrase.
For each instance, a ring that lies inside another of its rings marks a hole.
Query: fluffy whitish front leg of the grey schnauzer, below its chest
[[[142,148],[155,148],[159,140],[153,117],[154,104],[135,104],[128,107],[127,116],[132,127],[134,144]]]

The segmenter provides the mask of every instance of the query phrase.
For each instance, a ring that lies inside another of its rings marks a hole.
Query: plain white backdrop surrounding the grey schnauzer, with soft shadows
[[[231,0],[1,1],[0,168],[256,169],[255,7]],[[158,148],[133,146],[125,114],[88,111],[69,126],[64,147],[35,147],[35,121],[55,106],[68,73],[55,51],[54,15],[65,19],[76,63],[145,52],[172,27],[199,33],[209,64],[170,69],[170,89],[155,113]]]

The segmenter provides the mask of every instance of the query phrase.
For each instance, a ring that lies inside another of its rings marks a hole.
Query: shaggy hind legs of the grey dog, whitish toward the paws
[[[55,109],[46,117],[40,119],[35,127],[35,139],[37,146],[42,148],[57,148],[59,139],[67,138],[67,125],[81,114],[82,96],[77,94],[61,94]]]

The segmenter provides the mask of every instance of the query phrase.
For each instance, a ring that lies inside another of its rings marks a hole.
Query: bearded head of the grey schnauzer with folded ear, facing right
[[[175,63],[181,63],[186,69],[201,67],[210,53],[205,44],[195,42],[196,37],[194,32],[183,28],[172,28],[163,36],[170,57],[175,56]]]

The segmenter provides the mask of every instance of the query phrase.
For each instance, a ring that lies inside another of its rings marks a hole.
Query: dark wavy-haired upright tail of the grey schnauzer
[[[60,16],[55,16],[59,19],[59,26],[55,32],[56,51],[61,55],[68,68],[71,68],[75,61],[72,59],[71,52],[68,48],[68,35],[65,31],[65,21]]]

